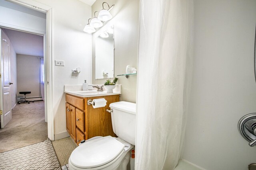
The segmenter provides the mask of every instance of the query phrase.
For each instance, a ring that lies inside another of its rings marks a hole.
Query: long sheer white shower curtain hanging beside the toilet
[[[178,164],[192,42],[193,0],[140,0],[136,170],[172,170]]]

